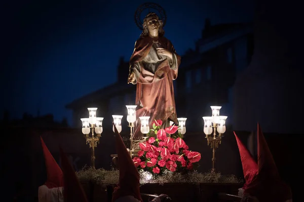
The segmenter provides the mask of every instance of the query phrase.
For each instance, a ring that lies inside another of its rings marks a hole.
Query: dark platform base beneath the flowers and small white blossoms
[[[113,187],[115,185],[101,185],[94,181],[81,182],[90,202],[111,201]],[[192,201],[192,202],[215,202],[226,201],[219,199],[218,193],[238,194],[238,188],[242,184],[233,183],[165,183],[160,184],[144,184],[140,187],[141,193],[147,194],[167,194],[173,202]],[[222,197],[221,197],[222,198]],[[148,198],[143,197],[144,201]],[[232,200],[231,200],[232,201]]]

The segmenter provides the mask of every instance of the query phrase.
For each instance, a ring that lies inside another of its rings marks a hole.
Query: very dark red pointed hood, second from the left
[[[64,175],[64,202],[87,202],[85,191],[61,147],[60,157]]]

